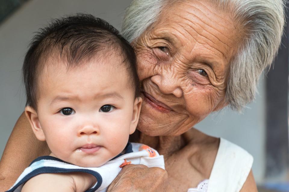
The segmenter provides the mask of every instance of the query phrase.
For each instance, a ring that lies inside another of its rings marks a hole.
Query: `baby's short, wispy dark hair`
[[[48,58],[55,56],[66,61],[67,67],[75,67],[83,63],[80,61],[89,61],[96,55],[99,58],[101,54],[103,59],[108,54],[121,56],[135,98],[138,97],[140,88],[133,48],[108,22],[90,14],[78,13],[52,20],[33,37],[22,68],[26,106],[37,110],[37,80]]]

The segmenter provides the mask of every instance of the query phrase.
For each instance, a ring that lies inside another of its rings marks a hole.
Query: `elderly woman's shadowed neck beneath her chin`
[[[182,135],[178,136],[149,136],[136,130],[130,137],[131,142],[143,143],[157,150],[165,158],[179,151],[186,145]]]

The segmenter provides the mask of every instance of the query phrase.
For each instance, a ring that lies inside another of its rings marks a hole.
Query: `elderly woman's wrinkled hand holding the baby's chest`
[[[107,192],[174,192],[169,185],[168,173],[159,167],[126,165],[107,189]]]

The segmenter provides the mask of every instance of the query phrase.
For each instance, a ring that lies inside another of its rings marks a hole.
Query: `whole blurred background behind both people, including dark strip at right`
[[[90,13],[120,29],[131,0],[0,0],[0,158],[26,102],[21,67],[33,32],[51,18]],[[288,18],[287,18],[288,22]],[[224,109],[195,127],[225,138],[254,157],[259,191],[289,191],[288,25],[274,70],[260,79],[256,100],[239,114]],[[19,145],[21,143],[19,142]]]

